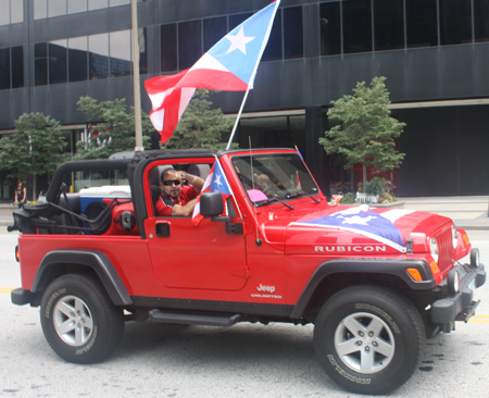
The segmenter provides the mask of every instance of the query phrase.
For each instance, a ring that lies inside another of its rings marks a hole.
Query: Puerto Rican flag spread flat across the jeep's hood
[[[366,204],[322,215],[312,220],[301,220],[291,224],[336,228],[353,232],[405,252],[400,229],[394,223],[414,210],[387,210],[374,212]]]

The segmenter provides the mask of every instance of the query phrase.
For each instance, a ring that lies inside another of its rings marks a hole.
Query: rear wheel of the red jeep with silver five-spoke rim
[[[41,299],[46,339],[61,358],[93,363],[109,356],[124,333],[124,315],[102,285],[90,276],[68,274],[54,279]]]

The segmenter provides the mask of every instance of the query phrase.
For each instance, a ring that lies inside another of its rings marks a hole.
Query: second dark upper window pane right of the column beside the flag
[[[372,51],[371,0],[350,0],[343,7],[343,52]]]

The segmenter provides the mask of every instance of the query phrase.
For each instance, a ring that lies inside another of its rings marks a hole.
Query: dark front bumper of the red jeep
[[[485,266],[480,264],[474,268],[465,264],[459,265],[456,269],[460,275],[460,291],[431,304],[434,323],[467,322],[479,304],[479,301],[474,300],[474,293],[476,288],[486,283]]]

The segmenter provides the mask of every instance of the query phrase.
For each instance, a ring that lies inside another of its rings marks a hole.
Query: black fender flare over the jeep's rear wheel
[[[106,254],[100,250],[64,249],[50,251],[43,257],[39,265],[30,291],[45,290],[51,282],[50,276],[55,268],[65,264],[78,264],[92,269],[115,306],[133,304],[133,299],[117,271]]]

